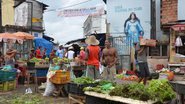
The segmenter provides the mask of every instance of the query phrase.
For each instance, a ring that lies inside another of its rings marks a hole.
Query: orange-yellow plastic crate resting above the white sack
[[[50,78],[54,84],[66,84],[70,82],[70,71],[56,71],[55,75]]]

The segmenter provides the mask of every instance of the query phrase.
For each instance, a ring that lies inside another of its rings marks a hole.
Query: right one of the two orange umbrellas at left
[[[25,32],[16,32],[13,35],[16,35],[17,37],[21,38],[21,39],[30,39],[33,40],[34,36],[29,34],[29,33],[25,33]]]

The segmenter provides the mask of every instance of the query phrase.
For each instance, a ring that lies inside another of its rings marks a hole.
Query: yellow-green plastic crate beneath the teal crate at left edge
[[[16,88],[16,80],[0,83],[0,91],[11,91]]]

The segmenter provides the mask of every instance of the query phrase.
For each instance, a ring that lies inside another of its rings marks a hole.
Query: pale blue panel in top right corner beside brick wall
[[[178,0],[178,20],[185,20],[185,0]]]

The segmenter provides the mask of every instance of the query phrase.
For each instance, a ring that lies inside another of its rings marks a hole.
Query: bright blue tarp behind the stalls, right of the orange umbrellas
[[[49,54],[51,53],[52,49],[53,49],[53,43],[47,41],[44,38],[35,38],[34,39],[34,43],[35,43],[35,49],[37,49],[39,46],[42,47],[42,50],[44,50],[44,48],[46,48],[46,55],[49,56]]]

